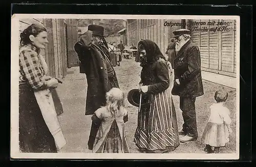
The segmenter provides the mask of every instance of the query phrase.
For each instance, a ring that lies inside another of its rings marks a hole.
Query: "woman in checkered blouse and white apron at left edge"
[[[20,34],[19,149],[21,152],[57,153],[67,144],[62,134],[51,91],[58,80],[47,75],[40,49],[48,43],[47,30],[30,25]]]

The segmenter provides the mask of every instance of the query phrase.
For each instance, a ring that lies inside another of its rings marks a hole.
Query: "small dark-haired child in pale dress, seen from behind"
[[[210,117],[202,135],[206,145],[204,151],[207,153],[219,153],[220,148],[229,142],[229,133],[232,133],[232,129],[230,111],[224,106],[227,97],[227,92],[217,90],[214,96],[217,103],[210,105]]]

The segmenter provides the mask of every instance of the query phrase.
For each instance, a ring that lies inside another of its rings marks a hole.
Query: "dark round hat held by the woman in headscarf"
[[[140,105],[140,92],[139,89],[132,89],[127,94],[127,100],[135,107],[139,107]],[[141,107],[152,102],[153,96],[152,94],[145,94],[142,92],[141,94]]]

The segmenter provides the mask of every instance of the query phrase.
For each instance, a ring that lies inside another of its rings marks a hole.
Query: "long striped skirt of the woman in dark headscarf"
[[[155,94],[138,113],[134,142],[142,152],[163,153],[179,146],[178,126],[170,87]]]

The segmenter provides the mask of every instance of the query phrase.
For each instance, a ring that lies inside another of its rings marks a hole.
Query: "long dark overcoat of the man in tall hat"
[[[105,51],[94,44],[89,49],[79,41],[74,48],[87,77],[86,115],[91,115],[105,105],[105,93],[111,89],[105,63],[109,61],[109,57]],[[119,87],[115,71],[114,81],[116,84],[114,87]]]

